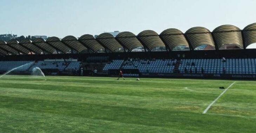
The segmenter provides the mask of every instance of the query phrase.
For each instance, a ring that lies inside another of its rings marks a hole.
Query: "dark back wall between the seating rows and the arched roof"
[[[91,53],[91,54],[46,54],[46,55],[6,55],[0,56],[0,60],[44,60],[77,58],[80,61],[90,56],[109,56],[110,60],[127,57],[139,58],[177,58],[177,54],[185,55],[185,58],[256,58],[256,49],[225,49],[225,50],[184,50],[184,51],[161,51],[161,52],[126,52],[126,53]]]

